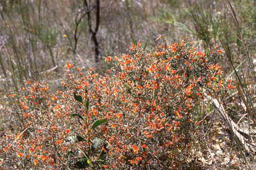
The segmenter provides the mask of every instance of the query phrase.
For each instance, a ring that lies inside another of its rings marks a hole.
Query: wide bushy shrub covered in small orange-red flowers
[[[196,51],[192,42],[163,44],[109,56],[114,76],[65,66],[65,91],[51,94],[45,83],[17,103],[21,129],[1,139],[3,169],[189,168],[186,158],[197,133],[197,107],[225,88],[218,80],[220,50]]]

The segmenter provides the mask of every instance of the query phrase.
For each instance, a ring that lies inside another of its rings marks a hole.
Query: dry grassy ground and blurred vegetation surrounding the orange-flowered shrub
[[[198,50],[221,48],[226,57],[219,63],[220,78],[231,79],[235,87],[219,102],[223,107],[201,104],[197,119],[203,134],[197,139],[201,151],[193,151],[195,163],[211,169],[255,168],[256,1],[0,2],[2,137],[20,130],[5,97],[29,90],[24,80],[47,82],[55,93],[64,90],[58,75],[67,60],[104,75],[111,64],[103,56],[127,53],[131,42],[150,49],[159,35],[168,42],[188,37]]]

